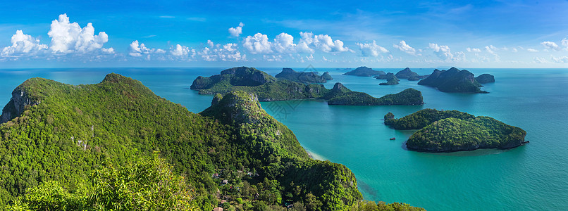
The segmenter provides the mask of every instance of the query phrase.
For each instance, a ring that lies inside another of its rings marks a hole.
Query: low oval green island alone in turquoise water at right
[[[526,132],[519,127],[457,110],[427,108],[400,119],[388,113],[384,121],[394,129],[418,129],[406,143],[412,151],[447,153],[481,148],[508,149],[528,143],[524,141]]]

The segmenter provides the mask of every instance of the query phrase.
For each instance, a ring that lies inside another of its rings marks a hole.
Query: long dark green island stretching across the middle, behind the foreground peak
[[[256,94],[259,101],[287,101],[295,99],[323,99],[329,105],[343,106],[414,106],[422,105],[421,91],[405,89],[398,94],[375,98],[369,94],[351,91],[340,83],[333,89],[323,84],[303,84],[288,79],[276,79],[256,68],[230,68],[220,75],[199,76],[190,87],[199,94],[226,94],[230,91],[246,91]]]

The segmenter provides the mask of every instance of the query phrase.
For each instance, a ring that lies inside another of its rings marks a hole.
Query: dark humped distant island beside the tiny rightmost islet
[[[457,68],[441,71],[436,69],[426,79],[421,79],[418,84],[436,87],[443,92],[488,93],[479,89],[483,86],[477,82],[473,73]]]

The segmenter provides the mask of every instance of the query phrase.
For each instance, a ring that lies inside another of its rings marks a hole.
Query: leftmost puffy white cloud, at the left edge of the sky
[[[12,35],[12,45],[2,49],[2,57],[34,56],[47,49],[47,45],[39,44],[39,39],[35,39],[22,30],[17,30]]]

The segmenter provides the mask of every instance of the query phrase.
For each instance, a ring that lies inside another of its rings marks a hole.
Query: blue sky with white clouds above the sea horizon
[[[568,68],[568,1],[6,1],[0,68]]]

